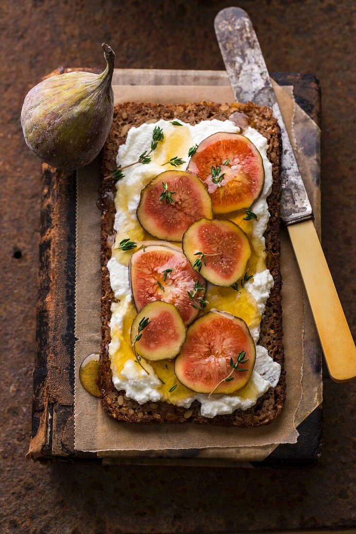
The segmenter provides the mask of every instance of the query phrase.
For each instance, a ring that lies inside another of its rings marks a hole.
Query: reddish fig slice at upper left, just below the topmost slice
[[[143,229],[167,241],[182,241],[188,226],[212,216],[210,195],[202,180],[180,170],[167,170],[153,178],[141,191],[137,208]]]

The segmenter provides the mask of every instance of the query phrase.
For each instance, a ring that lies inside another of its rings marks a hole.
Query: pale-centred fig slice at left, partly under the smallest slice
[[[150,245],[135,252],[130,260],[130,285],[137,311],[156,300],[174,304],[183,321],[189,325],[199,310],[192,307],[188,291],[196,282],[205,287],[204,278],[197,273],[182,250],[175,246]],[[205,289],[197,296],[204,297]]]

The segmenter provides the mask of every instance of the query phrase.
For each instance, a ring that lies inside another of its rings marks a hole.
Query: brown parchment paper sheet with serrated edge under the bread
[[[296,112],[290,91],[276,88],[278,103],[291,127]],[[228,87],[210,86],[134,86],[114,87],[115,103],[151,101],[234,100]],[[300,109],[300,108],[299,108]],[[296,139],[294,139],[296,140]],[[295,147],[296,150],[296,147]],[[197,450],[199,456],[262,459],[278,443],[296,443],[295,415],[300,404],[303,368],[303,286],[287,232],[281,232],[282,309],[287,370],[287,400],[282,414],[267,426],[225,428],[210,425],[171,424],[136,425],[119,423],[107,417],[100,402],[85,391],[79,381],[79,366],[100,346],[100,212],[95,207],[99,176],[97,162],[78,172],[76,226],[76,327],[75,335],[75,449],[119,456],[127,451]],[[203,450],[204,449],[204,450]],[[201,450],[201,451],[199,451]],[[223,451],[226,451],[224,454]],[[125,451],[125,452],[122,452]],[[219,454],[219,451],[222,454]],[[187,451],[186,451],[187,452]]]

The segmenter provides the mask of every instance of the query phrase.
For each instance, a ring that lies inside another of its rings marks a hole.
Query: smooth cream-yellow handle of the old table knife
[[[287,226],[332,380],[356,376],[356,348],[313,221]]]

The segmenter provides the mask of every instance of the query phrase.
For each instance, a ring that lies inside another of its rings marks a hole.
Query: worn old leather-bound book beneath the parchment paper
[[[72,69],[75,70],[75,69]],[[311,75],[273,74],[281,85],[293,85],[295,99],[320,126],[320,89]],[[228,85],[223,71],[115,69],[113,84],[120,85]],[[318,140],[319,142],[319,140]],[[74,452],[74,281],[75,281],[75,174],[42,167],[43,195],[40,237],[40,277],[37,307],[37,349],[34,371],[33,425],[30,456],[68,461],[100,461],[94,453]],[[314,212],[320,214],[320,184],[313,187]],[[318,219],[320,220],[319,216]],[[306,312],[305,330],[311,316]],[[311,333],[307,339],[316,361],[320,350]],[[319,352],[318,352],[319,350]],[[319,365],[321,387],[321,365]],[[315,462],[320,451],[321,407],[298,427],[295,445],[279,445],[264,465]],[[104,460],[106,461],[106,460]],[[112,460],[111,460],[112,461]],[[152,462],[160,459],[118,458],[114,461]],[[207,464],[211,460],[164,460],[180,465]],[[229,465],[233,462],[228,462]]]

